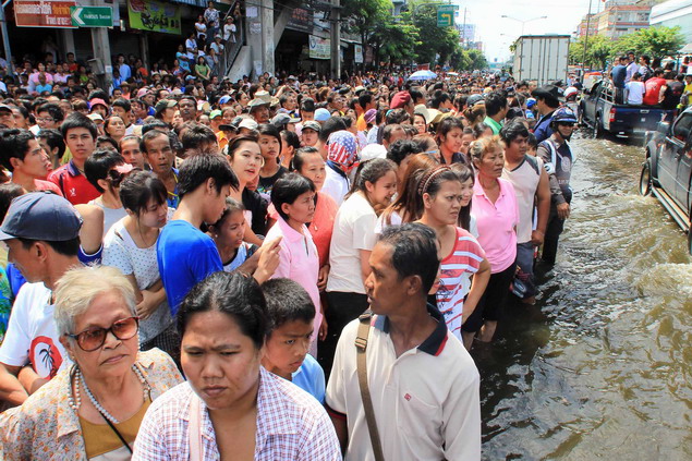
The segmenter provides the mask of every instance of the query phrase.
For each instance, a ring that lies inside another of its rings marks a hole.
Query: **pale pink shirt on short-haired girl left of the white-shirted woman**
[[[300,283],[315,304],[315,331],[313,331],[313,343],[316,343],[317,332],[321,324],[321,313],[319,311],[319,290],[317,289],[317,278],[319,276],[319,256],[317,247],[313,242],[313,236],[305,226],[301,234],[289,226],[281,216],[277,214],[277,222],[269,229],[265,243],[282,235],[281,251],[279,252],[279,266],[275,270],[272,279],[287,278]]]

